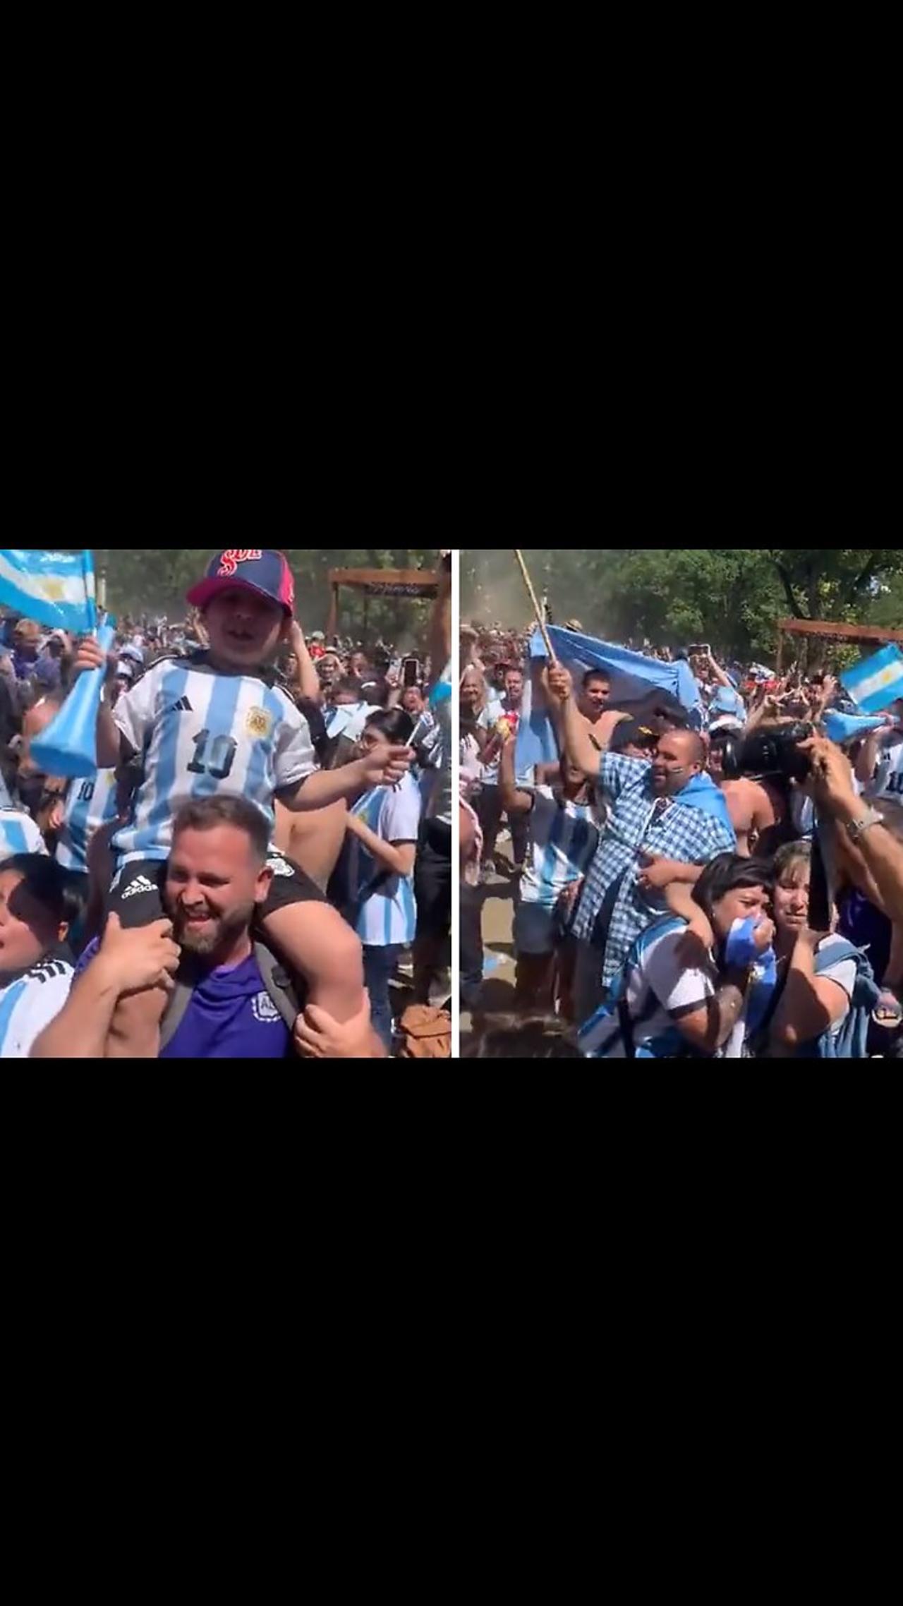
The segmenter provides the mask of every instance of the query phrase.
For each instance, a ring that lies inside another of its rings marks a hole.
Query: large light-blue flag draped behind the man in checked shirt
[[[546,626],[558,660],[575,679],[575,689],[586,670],[604,670],[611,681],[611,707],[630,711],[631,705],[649,702],[656,691],[668,692],[688,711],[699,703],[696,678],[686,660],[665,663],[662,658],[646,658],[641,652],[628,652],[595,636],[558,625]],[[546,649],[540,631],[530,638],[530,658],[545,658]],[[529,687],[530,691],[530,687]],[[532,697],[524,697],[524,713],[517,726],[516,768],[527,774],[533,764],[554,763],[558,744],[545,708],[533,707]]]

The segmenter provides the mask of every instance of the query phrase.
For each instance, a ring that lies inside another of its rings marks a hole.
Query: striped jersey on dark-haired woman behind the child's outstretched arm
[[[416,842],[421,795],[413,776],[395,787],[374,787],[353,805],[352,813],[382,842]],[[365,948],[403,948],[413,943],[418,909],[413,875],[392,875],[357,837],[350,838],[350,885],[357,903],[355,931]]]

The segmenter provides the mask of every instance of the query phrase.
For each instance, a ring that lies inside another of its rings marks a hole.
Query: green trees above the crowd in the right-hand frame
[[[556,623],[578,618],[607,641],[773,658],[782,617],[903,625],[903,557],[895,548],[651,548],[529,551],[537,594]],[[466,618],[524,625],[527,593],[511,551],[464,552]]]

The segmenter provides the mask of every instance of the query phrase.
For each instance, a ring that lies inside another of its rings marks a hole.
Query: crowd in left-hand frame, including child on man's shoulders
[[[112,650],[0,623],[0,1057],[450,1054],[452,575],[429,639],[326,641],[227,549]],[[42,740],[101,671],[96,768]]]

